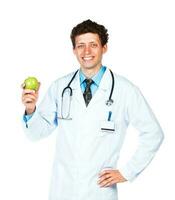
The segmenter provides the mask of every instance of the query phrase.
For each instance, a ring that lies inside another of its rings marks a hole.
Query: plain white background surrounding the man
[[[109,30],[103,64],[141,89],[165,133],[149,167],[119,186],[120,200],[175,199],[175,6],[170,0],[0,1],[0,199],[47,200],[55,134],[30,142],[21,127],[20,84],[41,82],[40,99],[53,80],[78,68],[69,39],[85,19]],[[130,127],[120,165],[135,148]]]

